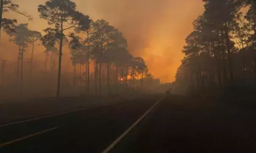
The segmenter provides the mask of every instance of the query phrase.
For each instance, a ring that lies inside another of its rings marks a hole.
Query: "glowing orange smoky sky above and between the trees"
[[[47,22],[39,19],[37,6],[45,1],[13,0],[20,5],[21,11],[34,17],[33,22],[14,13],[4,17],[15,17],[19,23],[28,22],[31,30],[41,31],[47,27]],[[193,30],[193,20],[204,11],[202,0],[73,1],[77,3],[77,10],[94,20],[105,19],[123,32],[130,52],[134,56],[142,56],[150,72],[161,82],[174,81],[183,57],[184,39]],[[8,40],[3,39],[3,43],[5,41]],[[2,50],[0,54],[3,54]]]

